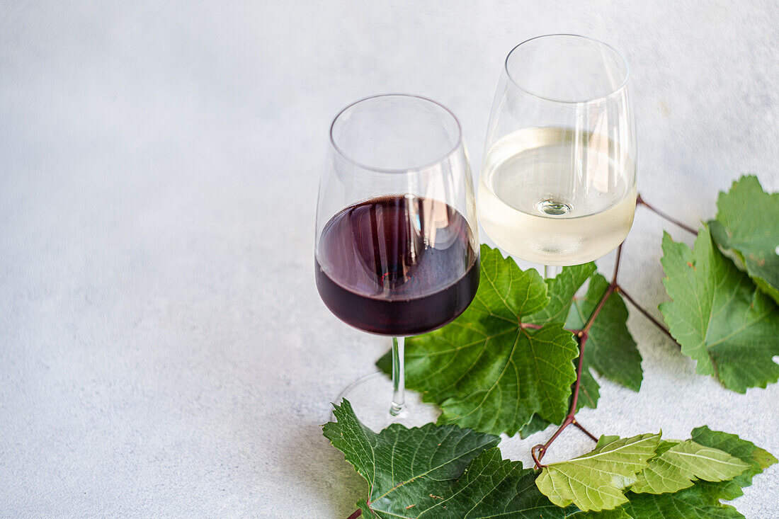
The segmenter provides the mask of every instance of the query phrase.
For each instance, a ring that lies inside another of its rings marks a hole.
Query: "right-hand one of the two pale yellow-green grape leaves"
[[[723,450],[704,447],[693,440],[676,443],[650,460],[630,487],[635,493],[673,493],[693,486],[695,479],[726,481],[741,474],[749,464]]]

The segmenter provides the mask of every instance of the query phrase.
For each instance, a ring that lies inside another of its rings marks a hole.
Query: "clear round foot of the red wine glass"
[[[406,401],[400,414],[393,415],[392,380],[384,373],[377,371],[361,376],[344,388],[335,400],[336,404],[346,398],[354,414],[366,427],[378,433],[393,423],[406,427],[420,427],[429,422],[435,422],[439,416],[438,408],[421,401],[419,394],[406,390]],[[335,421],[330,413],[330,421]]]

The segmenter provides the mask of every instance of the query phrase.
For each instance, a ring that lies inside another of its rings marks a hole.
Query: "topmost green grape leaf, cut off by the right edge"
[[[779,192],[769,194],[757,177],[743,176],[720,193],[709,228],[736,266],[779,303]]]

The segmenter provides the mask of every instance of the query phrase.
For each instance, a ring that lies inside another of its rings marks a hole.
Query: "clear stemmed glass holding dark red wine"
[[[449,323],[476,294],[471,182],[460,123],[425,97],[368,97],[344,108],[330,127],[316,213],[316,286],[344,323],[393,337],[386,421],[408,414],[404,337]],[[366,385],[352,384],[342,396],[381,405]],[[361,390],[368,397],[354,398]]]

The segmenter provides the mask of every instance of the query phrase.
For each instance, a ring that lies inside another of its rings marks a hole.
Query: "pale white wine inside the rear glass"
[[[521,129],[485,156],[479,220],[501,249],[522,260],[596,260],[622,243],[635,210],[633,160],[600,134]]]

